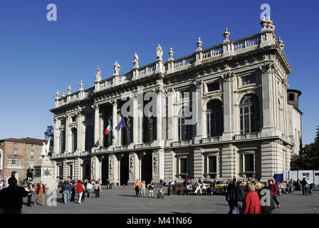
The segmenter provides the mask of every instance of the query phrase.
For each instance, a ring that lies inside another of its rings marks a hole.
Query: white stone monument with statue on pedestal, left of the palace
[[[56,190],[58,188],[58,182],[56,180],[56,175],[54,175],[54,165],[51,160],[48,159],[48,152],[50,150],[50,140],[47,144],[43,142],[41,148],[41,157],[39,158],[36,165],[34,165],[34,178],[33,182],[38,183],[43,182],[49,190]]]

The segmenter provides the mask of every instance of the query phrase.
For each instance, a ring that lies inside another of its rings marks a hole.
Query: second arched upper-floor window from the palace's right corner
[[[208,137],[221,136],[224,132],[223,105],[219,100],[207,104],[207,135]]]

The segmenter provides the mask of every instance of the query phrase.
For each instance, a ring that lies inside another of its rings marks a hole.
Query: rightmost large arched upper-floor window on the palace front
[[[244,95],[244,98],[241,99],[239,109],[241,134],[260,131],[258,97],[253,94]]]

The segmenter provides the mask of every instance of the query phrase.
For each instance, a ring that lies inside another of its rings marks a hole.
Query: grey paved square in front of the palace
[[[100,198],[88,198],[85,202],[63,204],[61,193],[57,192],[56,207],[43,207],[41,200],[34,207],[26,207],[26,198],[23,199],[22,214],[227,214],[229,206],[224,195],[166,195],[164,199],[157,199],[158,188],[155,187],[155,198],[136,197],[132,186],[125,189],[113,187],[113,190],[103,188]],[[148,192],[146,192],[148,195]],[[46,199],[47,199],[46,195]],[[33,195],[32,202],[36,199]],[[278,197],[280,209],[274,209],[273,214],[318,214],[319,195],[302,195],[302,192]],[[314,209],[314,207],[318,207]]]

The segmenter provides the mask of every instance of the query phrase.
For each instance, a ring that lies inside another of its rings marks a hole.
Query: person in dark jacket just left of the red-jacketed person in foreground
[[[230,200],[232,205],[231,214],[237,214],[238,212],[241,214],[243,210],[243,202],[245,202],[245,192],[240,181],[236,182],[236,185],[234,185],[231,189]]]

